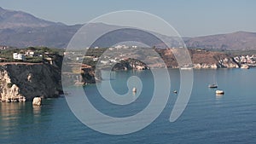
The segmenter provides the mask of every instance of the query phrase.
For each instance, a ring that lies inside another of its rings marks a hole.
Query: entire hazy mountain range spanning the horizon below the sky
[[[48,20],[39,19],[32,14],[21,11],[3,9],[0,7],[0,45],[14,46],[18,48],[29,46],[47,46],[65,48],[73,35],[82,25],[67,26]],[[120,26],[111,26],[103,23],[94,23],[94,32],[102,32],[106,29],[114,29]],[[95,31],[96,30],[96,31]],[[158,37],[178,46],[177,37],[166,37],[158,33]],[[136,40],[137,42],[151,43],[158,48],[166,48],[163,43],[157,43],[154,37],[146,37],[141,31],[119,31],[116,35],[102,37],[95,45],[108,47],[110,44],[122,40]],[[110,37],[111,36],[111,37]],[[137,36],[137,37],[135,37]],[[256,49],[256,32],[234,32],[204,37],[183,37],[184,43],[189,48],[202,49],[228,49],[246,50]],[[152,46],[152,45],[151,45]]]

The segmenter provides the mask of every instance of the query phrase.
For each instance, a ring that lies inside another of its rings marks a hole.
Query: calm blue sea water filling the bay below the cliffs
[[[179,72],[173,69],[169,72],[171,89],[178,90]],[[150,101],[154,81],[150,71],[113,72],[110,78],[113,89],[125,94],[126,79],[131,75],[143,79],[143,91],[130,105],[109,104],[96,92],[95,84],[86,86],[85,93],[105,114],[134,115]],[[177,99],[174,93],[159,118],[128,135],[90,130],[73,115],[65,98],[44,100],[42,107],[32,107],[32,102],[0,103],[0,143],[256,143],[256,69],[195,70],[194,75],[189,104],[174,123],[169,122]],[[224,89],[224,95],[215,95],[214,89],[207,88],[213,79],[219,89]]]

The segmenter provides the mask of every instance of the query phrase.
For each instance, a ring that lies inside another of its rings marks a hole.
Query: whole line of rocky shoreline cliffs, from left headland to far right
[[[177,66],[170,49],[158,51],[167,68]],[[195,69],[239,68],[241,65],[229,55],[219,52],[189,51]],[[145,63],[138,60],[126,60],[113,66],[112,71],[147,70]],[[69,72],[67,77],[80,79],[77,84],[94,84],[101,80],[101,72],[95,72],[92,66],[84,65],[78,74]],[[58,97],[62,91],[61,67],[48,63],[9,62],[0,63],[0,101],[22,102],[32,101],[34,97]]]

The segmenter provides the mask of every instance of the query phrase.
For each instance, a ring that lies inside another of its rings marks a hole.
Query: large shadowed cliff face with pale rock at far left
[[[54,97],[60,91],[61,73],[54,66],[29,63],[0,66],[0,101]]]

